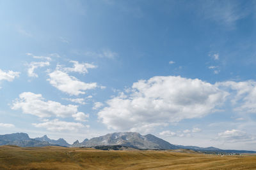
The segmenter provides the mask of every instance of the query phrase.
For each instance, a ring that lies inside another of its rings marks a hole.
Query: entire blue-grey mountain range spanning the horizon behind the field
[[[58,140],[50,139],[46,135],[41,138],[29,138],[26,133],[14,133],[0,135],[0,145],[16,145],[21,147],[35,147],[35,146],[67,146],[67,147],[86,147],[95,148],[99,146],[126,146],[130,148],[136,148],[139,150],[176,150],[176,149],[188,149],[205,153],[256,153],[254,151],[246,150],[220,150],[219,148],[207,147],[202,148],[198,146],[182,146],[173,145],[164,141],[161,138],[157,138],[152,134],[145,136],[138,132],[115,132],[99,136],[92,139],[84,139],[81,143],[75,141],[72,145],[67,143],[65,139],[60,138]]]

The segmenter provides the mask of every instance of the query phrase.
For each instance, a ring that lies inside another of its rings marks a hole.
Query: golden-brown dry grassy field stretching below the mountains
[[[0,146],[0,169],[256,169],[256,156]]]

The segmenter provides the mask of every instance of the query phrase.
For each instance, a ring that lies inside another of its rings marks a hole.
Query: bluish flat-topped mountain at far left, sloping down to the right
[[[29,138],[26,133],[0,135],[0,145],[16,145],[20,147],[50,146],[47,141],[38,141]]]

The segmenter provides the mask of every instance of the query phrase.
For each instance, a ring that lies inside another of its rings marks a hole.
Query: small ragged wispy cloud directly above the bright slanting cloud
[[[93,65],[93,64],[88,64],[88,63],[79,63],[76,60],[71,60],[70,62],[72,62],[74,64],[73,67],[64,67],[63,70],[65,72],[77,72],[77,73],[88,73],[88,69],[93,69],[96,68],[97,66]]]

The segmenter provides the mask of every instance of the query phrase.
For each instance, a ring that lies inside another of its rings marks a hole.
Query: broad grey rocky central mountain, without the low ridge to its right
[[[172,145],[152,134],[142,136],[137,132],[115,132],[97,138],[84,140],[82,143],[74,143],[72,147],[93,147],[104,145],[122,145],[142,150],[146,149],[177,149],[179,146]]]

